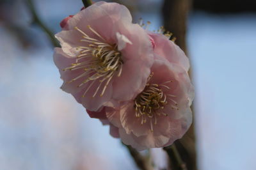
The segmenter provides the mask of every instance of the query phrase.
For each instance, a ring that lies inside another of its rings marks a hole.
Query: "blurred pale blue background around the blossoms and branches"
[[[118,2],[131,10],[134,22],[149,20],[150,30],[166,26],[188,52],[198,169],[255,170],[256,1],[179,0],[185,5],[179,8],[175,1]],[[83,6],[80,0],[33,3],[54,33]],[[0,169],[136,169],[109,128],[61,91],[52,49],[26,1],[0,0]],[[165,153],[152,154],[156,169],[164,169]]]

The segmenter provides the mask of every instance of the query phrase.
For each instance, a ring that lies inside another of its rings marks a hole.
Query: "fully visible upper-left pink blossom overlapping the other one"
[[[56,34],[61,48],[54,49],[54,63],[61,89],[90,111],[131,100],[147,83],[152,43],[131,21],[125,6],[98,2],[65,20]]]

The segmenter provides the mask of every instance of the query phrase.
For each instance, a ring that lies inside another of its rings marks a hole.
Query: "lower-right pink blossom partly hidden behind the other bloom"
[[[111,135],[120,136],[125,144],[138,150],[172,144],[192,122],[194,89],[188,72],[158,57],[151,72],[145,89],[134,100],[120,107],[106,107],[100,114],[91,112],[94,118],[109,121]],[[108,120],[102,116],[104,112]]]

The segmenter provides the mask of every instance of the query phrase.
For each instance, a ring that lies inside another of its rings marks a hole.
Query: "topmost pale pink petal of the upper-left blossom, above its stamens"
[[[69,30],[78,27],[84,33],[93,36],[86,29],[87,26],[92,26],[107,42],[113,42],[116,36],[115,24],[120,21],[131,23],[131,20],[131,13],[125,6],[117,3],[98,2],[77,13],[68,20],[67,24]]]

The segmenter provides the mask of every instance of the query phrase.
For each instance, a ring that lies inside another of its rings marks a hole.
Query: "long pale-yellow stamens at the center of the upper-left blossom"
[[[87,42],[88,45],[76,48],[76,50],[79,51],[79,54],[76,56],[76,63],[72,63],[72,65],[65,68],[64,71],[83,70],[80,75],[74,77],[69,82],[83,78],[84,81],[77,86],[78,88],[86,83],[90,83],[83,93],[84,97],[89,89],[92,88],[95,81],[99,81],[99,85],[93,97],[97,95],[100,88],[102,88],[100,93],[100,97],[102,97],[111,79],[113,79],[115,75],[120,77],[124,62],[122,61],[121,52],[117,50],[117,45],[107,43],[92,27],[88,26],[88,28],[97,35],[100,40],[86,35],[86,33],[76,27],[77,31],[83,35],[81,42]]]

